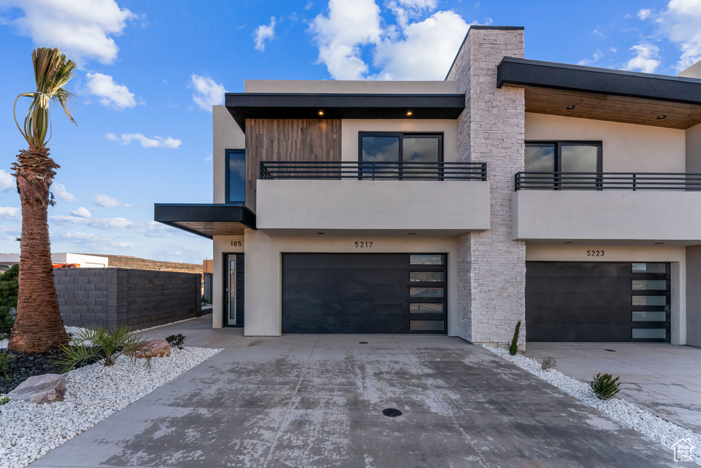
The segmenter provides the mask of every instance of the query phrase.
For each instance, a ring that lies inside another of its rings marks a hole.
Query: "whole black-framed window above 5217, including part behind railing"
[[[426,178],[435,174],[435,165],[422,166],[416,163],[440,163],[443,161],[442,133],[358,133],[358,161],[363,172],[400,178]],[[380,163],[372,166],[368,163]],[[409,163],[394,165],[391,163]],[[426,172],[426,168],[433,171]],[[367,176],[366,176],[367,177]],[[390,177],[386,177],[390,178]]]

